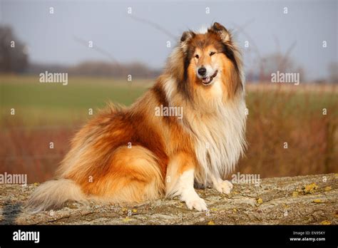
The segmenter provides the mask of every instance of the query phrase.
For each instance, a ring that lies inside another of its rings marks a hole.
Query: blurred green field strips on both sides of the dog
[[[26,125],[73,123],[90,117],[89,108],[93,108],[95,114],[108,101],[130,105],[153,83],[144,79],[130,83],[113,78],[69,77],[68,85],[63,86],[61,83],[39,83],[37,76],[0,76],[0,82],[1,123],[15,118]],[[272,110],[279,110],[280,115],[307,115],[337,105],[337,98],[337,91],[280,93],[249,89],[247,106],[253,115]],[[10,114],[11,108],[15,109],[15,115]]]

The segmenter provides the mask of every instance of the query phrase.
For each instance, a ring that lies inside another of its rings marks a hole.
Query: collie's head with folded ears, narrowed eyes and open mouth
[[[243,87],[240,53],[231,33],[217,22],[205,32],[185,31],[172,58],[178,89],[190,99],[194,94],[231,99]]]

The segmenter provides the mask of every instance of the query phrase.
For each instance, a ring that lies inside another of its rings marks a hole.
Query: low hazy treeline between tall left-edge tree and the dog
[[[29,74],[68,73],[70,76],[113,76],[124,78],[131,75],[136,78],[155,78],[160,70],[149,68],[144,63],[109,63],[104,61],[87,61],[76,66],[45,65],[31,63],[26,70]]]

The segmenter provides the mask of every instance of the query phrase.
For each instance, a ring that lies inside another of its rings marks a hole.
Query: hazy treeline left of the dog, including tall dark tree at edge
[[[105,61],[85,61],[76,66],[43,64],[29,61],[29,48],[19,40],[10,26],[0,25],[0,73],[40,74],[68,73],[76,76],[113,76],[155,78],[160,70],[153,69],[145,63],[109,63]]]

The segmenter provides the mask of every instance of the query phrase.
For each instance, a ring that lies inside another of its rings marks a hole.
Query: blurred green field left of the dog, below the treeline
[[[68,78],[68,85],[39,83],[33,76],[2,76],[1,122],[19,118],[27,125],[72,123],[88,116],[88,109],[103,108],[108,101],[130,105],[149,88],[151,80],[130,83],[112,78]],[[10,115],[11,108],[15,115]]]

